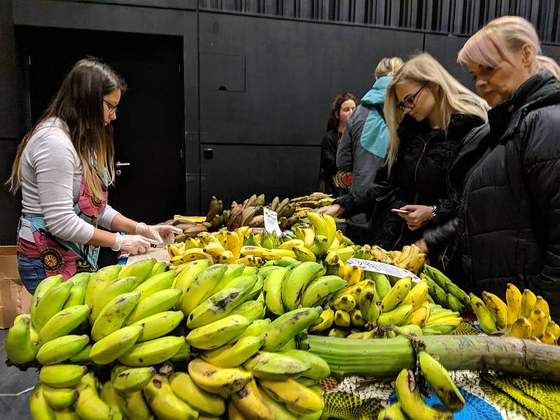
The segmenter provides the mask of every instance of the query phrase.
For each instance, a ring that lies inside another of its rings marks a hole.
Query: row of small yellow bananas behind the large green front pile
[[[274,232],[255,235],[248,226],[233,232],[201,232],[195,238],[167,246],[172,268],[181,269],[182,265],[201,259],[261,267],[267,261],[280,258],[323,261],[325,265],[342,267],[342,262],[353,257],[356,246],[337,230],[332,217],[316,213],[307,216],[313,228],[297,227],[294,235],[281,237]]]

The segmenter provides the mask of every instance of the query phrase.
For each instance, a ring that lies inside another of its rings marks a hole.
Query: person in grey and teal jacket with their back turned
[[[375,68],[375,82],[348,119],[337,151],[337,167],[352,173],[351,190],[370,186],[383,165],[389,141],[383,106],[387,85],[403,62],[400,57],[381,59]],[[346,235],[359,243],[367,237],[370,215],[356,214],[348,219]]]

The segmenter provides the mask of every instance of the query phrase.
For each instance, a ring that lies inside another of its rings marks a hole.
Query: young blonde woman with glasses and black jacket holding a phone
[[[372,242],[398,249],[417,242],[436,255],[423,233],[456,215],[445,175],[451,156],[486,121],[486,103],[458,83],[430,55],[409,59],[388,85],[385,118],[390,141],[375,183],[336,200],[323,212],[372,211]]]

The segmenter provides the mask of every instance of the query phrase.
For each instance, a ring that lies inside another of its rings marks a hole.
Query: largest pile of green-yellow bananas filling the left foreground
[[[208,259],[44,279],[6,337],[10,363],[41,369],[33,418],[319,419],[330,370],[296,338],[321,307],[271,321],[263,283]]]

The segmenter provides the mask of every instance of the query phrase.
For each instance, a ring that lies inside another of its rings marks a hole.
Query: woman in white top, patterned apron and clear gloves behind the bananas
[[[111,122],[125,90],[104,62],[81,59],[18,146],[8,185],[22,190],[18,267],[29,293],[45,276],[94,271],[99,246],[144,253],[176,231],[138,223],[107,204],[115,176]]]

